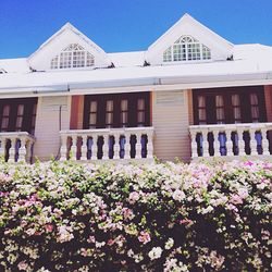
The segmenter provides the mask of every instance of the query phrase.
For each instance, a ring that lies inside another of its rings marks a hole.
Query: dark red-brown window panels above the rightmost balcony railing
[[[265,122],[262,86],[195,89],[195,124]]]

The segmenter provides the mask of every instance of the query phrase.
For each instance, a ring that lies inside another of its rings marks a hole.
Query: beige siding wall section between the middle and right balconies
[[[153,92],[154,156],[161,160],[190,160],[188,92]]]

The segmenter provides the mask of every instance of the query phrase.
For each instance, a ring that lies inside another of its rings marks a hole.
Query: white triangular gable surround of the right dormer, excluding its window
[[[163,52],[182,36],[190,36],[208,47],[211,50],[211,59],[214,61],[226,60],[233,54],[233,44],[210,30],[189,14],[185,14],[148,48],[147,61],[150,64],[162,64]]]

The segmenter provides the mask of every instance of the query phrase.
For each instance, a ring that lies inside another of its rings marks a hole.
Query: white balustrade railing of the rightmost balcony
[[[272,123],[189,126],[191,158],[267,157],[272,151]]]

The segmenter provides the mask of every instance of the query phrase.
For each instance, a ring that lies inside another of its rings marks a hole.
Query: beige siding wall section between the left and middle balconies
[[[40,161],[55,157],[60,148],[61,129],[70,128],[71,97],[40,97],[38,99],[34,145],[34,158]]]

